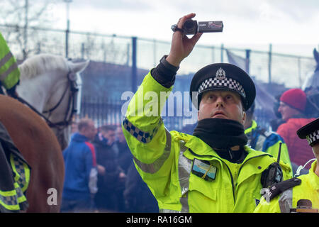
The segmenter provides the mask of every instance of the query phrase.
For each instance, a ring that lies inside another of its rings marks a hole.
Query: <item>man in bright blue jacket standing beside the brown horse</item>
[[[97,192],[97,167],[94,145],[89,141],[96,135],[94,121],[79,121],[79,132],[74,133],[63,151],[65,184],[62,192],[62,212],[89,212]]]

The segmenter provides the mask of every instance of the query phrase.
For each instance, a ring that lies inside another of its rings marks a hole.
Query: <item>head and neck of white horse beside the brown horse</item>
[[[62,150],[69,145],[72,116],[81,104],[82,79],[87,65],[71,62],[59,55],[40,54],[25,60],[19,69],[18,96],[43,115]]]

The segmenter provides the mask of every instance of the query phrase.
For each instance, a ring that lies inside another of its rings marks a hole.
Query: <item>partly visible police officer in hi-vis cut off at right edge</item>
[[[313,150],[315,160],[309,173],[264,190],[264,198],[255,212],[318,212],[319,209],[319,118],[297,131]],[[310,160],[311,161],[311,160]]]

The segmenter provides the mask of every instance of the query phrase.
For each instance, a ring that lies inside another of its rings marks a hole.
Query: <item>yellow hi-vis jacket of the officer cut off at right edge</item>
[[[276,196],[271,201],[264,198],[255,209],[255,213],[289,213],[291,208],[296,208],[300,199],[308,199],[312,203],[313,209],[319,210],[319,177],[315,174],[315,167],[318,162],[311,165],[307,175],[301,175],[301,184]]]

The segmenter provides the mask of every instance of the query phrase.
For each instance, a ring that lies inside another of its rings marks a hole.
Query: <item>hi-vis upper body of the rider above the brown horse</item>
[[[0,82],[7,94],[16,97],[16,85],[20,79],[20,70],[16,58],[12,55],[6,40],[0,33]],[[0,94],[4,94],[0,87]]]

